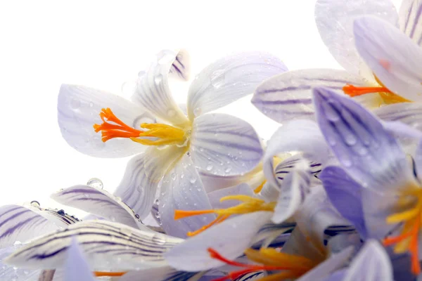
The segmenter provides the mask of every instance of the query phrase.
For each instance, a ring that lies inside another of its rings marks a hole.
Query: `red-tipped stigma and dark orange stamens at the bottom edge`
[[[303,256],[281,253],[272,248],[260,250],[246,249],[245,255],[248,259],[250,259],[250,261],[255,261],[256,263],[261,263],[262,266],[231,261],[224,258],[224,256],[220,255],[212,248],[208,248],[208,252],[210,253],[212,259],[222,261],[229,266],[244,268],[242,270],[232,271],[228,275],[212,281],[236,280],[238,277],[257,270],[283,270],[280,273],[274,273],[267,277],[258,279],[260,281],[285,280],[300,277],[317,265],[314,261],[311,261]]]

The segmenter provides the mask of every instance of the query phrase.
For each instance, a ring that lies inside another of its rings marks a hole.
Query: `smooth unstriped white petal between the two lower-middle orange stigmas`
[[[212,259],[207,249],[215,249],[226,259],[236,259],[250,246],[257,231],[269,222],[271,214],[257,211],[230,218],[177,245],[165,254],[165,259],[170,266],[186,271],[222,266],[224,263]]]

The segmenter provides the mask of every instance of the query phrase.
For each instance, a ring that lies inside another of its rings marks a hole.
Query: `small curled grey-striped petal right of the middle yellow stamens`
[[[283,185],[281,185],[279,200],[271,218],[274,223],[286,221],[295,214],[309,193],[310,183],[309,164],[305,159],[302,159],[290,171],[283,181]]]

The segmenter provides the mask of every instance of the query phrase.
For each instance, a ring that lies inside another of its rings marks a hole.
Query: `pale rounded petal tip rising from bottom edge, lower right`
[[[367,240],[350,263],[343,281],[392,281],[392,265],[385,249],[376,240]]]

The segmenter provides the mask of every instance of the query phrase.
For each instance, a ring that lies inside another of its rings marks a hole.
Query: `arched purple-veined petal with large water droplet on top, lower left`
[[[132,228],[149,230],[146,226],[143,226],[139,218],[135,217],[134,211],[127,207],[127,204],[100,188],[93,188],[89,185],[74,185],[53,193],[51,198],[60,204],[87,211],[109,221],[123,223]]]

